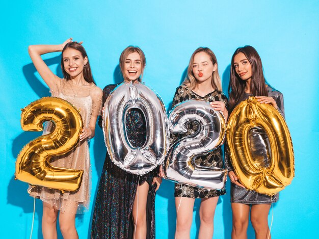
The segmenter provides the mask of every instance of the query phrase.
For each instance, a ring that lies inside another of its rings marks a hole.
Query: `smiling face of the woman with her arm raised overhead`
[[[84,65],[87,64],[88,58],[83,58],[80,51],[73,48],[67,48],[63,51],[63,66],[70,78],[75,78],[83,73]]]

